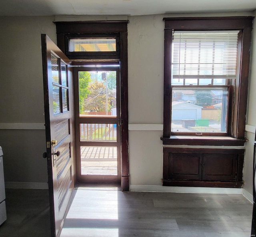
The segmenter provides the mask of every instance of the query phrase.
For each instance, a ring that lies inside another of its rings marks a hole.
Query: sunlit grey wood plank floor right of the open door
[[[249,237],[242,195],[78,188],[61,237]]]

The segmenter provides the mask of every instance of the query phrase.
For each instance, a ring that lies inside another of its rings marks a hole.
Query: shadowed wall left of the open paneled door
[[[53,21],[0,18],[0,145],[7,187],[15,185],[9,182],[47,183],[41,33],[56,42]]]

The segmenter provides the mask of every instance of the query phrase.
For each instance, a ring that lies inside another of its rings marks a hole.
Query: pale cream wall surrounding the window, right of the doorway
[[[129,159],[132,188],[136,185],[162,185],[163,145],[160,141],[162,131],[154,130],[155,127],[161,127],[160,125],[163,123],[164,21],[162,19],[184,16],[250,15],[253,13],[166,14],[128,17],[130,20],[128,24],[128,106],[129,127],[132,127],[129,131]],[[256,39],[255,33],[254,39]],[[256,46],[254,46],[254,51],[256,51]],[[255,64],[256,53],[252,61]],[[256,67],[254,75],[256,78]],[[256,82],[254,82],[250,94],[255,96],[255,89]],[[256,98],[252,99],[249,106],[253,115],[256,111],[255,101]],[[252,125],[255,125],[255,121]],[[133,129],[134,127],[136,129]],[[144,127],[147,127],[148,131],[143,131]],[[246,154],[251,157],[249,151],[251,152],[251,147],[248,147]],[[245,175],[246,185],[248,192],[251,193],[249,191],[252,189],[252,173],[249,170],[251,161],[246,160],[246,165],[248,165],[244,169],[245,172],[248,172],[248,175]]]

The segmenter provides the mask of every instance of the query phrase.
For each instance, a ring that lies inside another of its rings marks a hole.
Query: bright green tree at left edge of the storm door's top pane
[[[91,93],[89,90],[89,84],[91,82],[90,72],[80,71],[78,72],[79,82],[79,113],[84,114],[85,99]]]

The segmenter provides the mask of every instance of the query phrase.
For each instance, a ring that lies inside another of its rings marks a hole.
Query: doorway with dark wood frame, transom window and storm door
[[[121,183],[122,191],[129,191],[128,22],[128,20],[54,22],[57,45],[71,62],[74,91],[76,91],[75,101],[71,102],[76,110],[75,181],[80,184]],[[87,100],[86,98],[84,100],[88,102],[88,98],[92,99],[96,96],[93,91],[98,90],[98,98],[102,98],[102,105],[105,104],[104,101],[107,102],[106,109],[98,110],[91,106],[84,110],[87,114],[81,113],[80,116],[78,111],[81,109],[78,103],[79,74],[88,73],[91,79],[98,74],[98,87],[100,82],[102,84],[101,92],[99,88],[90,88],[90,94],[87,95]],[[109,85],[110,73],[116,74],[116,88],[118,88],[116,89],[116,108],[111,99],[114,97],[114,91]],[[106,87],[106,84],[109,86]],[[116,116],[113,114],[115,112]],[[110,163],[103,165],[106,157]],[[104,160],[101,161],[101,159]],[[93,163],[90,164],[92,161]],[[98,168],[96,162],[99,162]],[[116,162],[115,165],[112,164],[114,162]],[[99,174],[99,169],[102,175]]]

